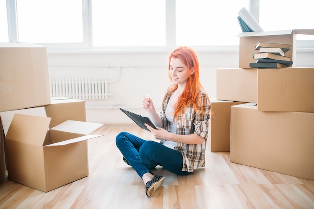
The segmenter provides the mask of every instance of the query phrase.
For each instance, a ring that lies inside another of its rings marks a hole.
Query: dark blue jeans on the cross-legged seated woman
[[[127,132],[121,132],[116,137],[116,145],[141,178],[147,172],[153,174],[151,169],[157,165],[177,175],[189,174],[187,171],[181,171],[182,154],[163,144],[147,141]]]

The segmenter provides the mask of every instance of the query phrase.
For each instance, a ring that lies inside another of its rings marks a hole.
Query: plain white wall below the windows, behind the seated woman
[[[89,122],[131,124],[118,107],[142,115],[140,103],[149,94],[155,107],[160,108],[169,85],[168,55],[163,52],[50,52],[50,77],[107,77],[107,100],[86,100]],[[200,80],[210,98],[216,97],[216,70],[238,68],[238,51],[196,51],[200,62]],[[297,52],[297,67],[314,66],[314,52]],[[230,86],[231,87],[231,86]]]

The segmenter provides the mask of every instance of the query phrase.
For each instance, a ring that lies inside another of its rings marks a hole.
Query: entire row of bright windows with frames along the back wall
[[[0,0],[0,41],[48,50],[235,48],[238,12],[249,3],[265,31],[312,29],[311,0]]]

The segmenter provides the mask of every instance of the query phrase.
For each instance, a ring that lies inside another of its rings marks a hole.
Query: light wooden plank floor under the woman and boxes
[[[89,176],[44,193],[8,181],[0,184],[0,208],[314,208],[314,181],[230,163],[229,152],[206,151],[206,167],[176,176],[162,167],[165,181],[153,197],[122,161],[115,136],[128,131],[154,140],[138,127],[106,126],[88,141]]]

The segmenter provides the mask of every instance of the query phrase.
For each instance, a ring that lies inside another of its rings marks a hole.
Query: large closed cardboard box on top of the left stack
[[[50,104],[47,50],[0,43],[0,112]]]

